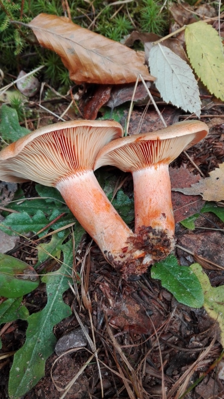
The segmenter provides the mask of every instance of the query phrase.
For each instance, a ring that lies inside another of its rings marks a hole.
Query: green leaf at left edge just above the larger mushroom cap
[[[22,128],[18,122],[15,109],[3,104],[0,109],[0,136],[5,141],[16,141],[29,133],[28,129]]]

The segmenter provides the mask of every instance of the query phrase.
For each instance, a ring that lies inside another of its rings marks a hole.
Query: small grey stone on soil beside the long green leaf
[[[84,326],[84,328],[88,334],[88,327]],[[66,334],[63,337],[59,338],[55,346],[55,352],[58,356],[60,356],[62,355],[62,353],[68,351],[69,349],[85,347],[87,343],[87,338],[82,331],[82,328],[79,327],[71,331],[69,334]]]

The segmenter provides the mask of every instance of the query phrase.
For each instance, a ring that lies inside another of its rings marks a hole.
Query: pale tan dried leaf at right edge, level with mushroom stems
[[[219,167],[210,173],[209,178],[193,184],[192,187],[173,189],[173,191],[179,191],[187,196],[198,196],[200,194],[206,201],[224,200],[224,164],[220,164]]]

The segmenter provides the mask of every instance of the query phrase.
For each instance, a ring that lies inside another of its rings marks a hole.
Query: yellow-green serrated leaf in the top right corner
[[[198,21],[187,25],[185,39],[191,64],[212,94],[224,101],[224,53],[219,33]]]

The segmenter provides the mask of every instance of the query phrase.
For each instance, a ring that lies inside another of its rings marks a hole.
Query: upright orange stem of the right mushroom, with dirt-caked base
[[[175,221],[168,164],[133,172],[135,233],[152,247],[155,260],[174,249]]]

